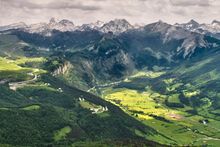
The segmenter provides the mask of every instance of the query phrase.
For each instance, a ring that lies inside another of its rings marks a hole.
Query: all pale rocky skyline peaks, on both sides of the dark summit
[[[186,30],[201,33],[201,34],[205,34],[205,33],[219,34],[220,32],[220,22],[217,20],[213,20],[211,24],[204,24],[204,23],[199,24],[195,20],[190,20],[188,23],[183,23],[183,24],[176,23],[174,26],[181,27]],[[67,19],[63,19],[57,22],[55,18],[51,18],[49,23],[27,25],[24,22],[20,22],[20,23],[11,24],[8,26],[2,26],[0,27],[0,30],[4,31],[4,30],[9,30],[9,29],[24,29],[30,33],[37,33],[37,32],[42,33],[44,31],[52,31],[52,30],[67,32],[67,31],[75,31],[75,30],[85,31],[85,30],[91,29],[91,30],[101,31],[103,33],[113,32],[116,34],[120,34],[122,32],[125,32],[130,29],[134,29],[134,28],[141,29],[141,27],[143,27],[143,25],[133,26],[125,19],[115,19],[108,23],[97,21],[95,23],[76,26],[74,25],[72,21],[67,20]]]

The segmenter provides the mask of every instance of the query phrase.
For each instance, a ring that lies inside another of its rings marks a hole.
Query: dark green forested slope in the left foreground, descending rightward
[[[32,58],[28,62],[30,60]],[[0,75],[2,78],[1,72]],[[12,85],[17,88],[12,88]],[[51,74],[39,73],[37,79],[31,82],[21,81],[14,76],[1,82],[0,91],[0,118],[4,120],[1,121],[1,144],[70,146],[78,141],[101,141],[103,144],[126,145],[123,140],[129,140],[131,144],[156,145],[138,136],[135,131],[150,136],[160,135],[118,107],[67,86]]]

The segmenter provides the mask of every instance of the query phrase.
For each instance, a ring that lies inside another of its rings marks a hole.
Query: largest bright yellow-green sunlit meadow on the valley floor
[[[108,93],[105,98],[128,111],[139,119],[152,119],[152,116],[167,117],[170,111],[156,103],[153,99],[159,97],[159,93],[137,92],[130,89],[117,89]],[[161,97],[164,97],[161,95]]]

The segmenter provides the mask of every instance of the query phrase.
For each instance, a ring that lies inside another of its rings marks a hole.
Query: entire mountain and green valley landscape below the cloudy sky
[[[14,25],[0,27],[0,146],[220,145],[218,34]]]

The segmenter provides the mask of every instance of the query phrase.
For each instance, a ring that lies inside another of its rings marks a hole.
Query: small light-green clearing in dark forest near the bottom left
[[[66,138],[66,136],[72,131],[72,129],[69,126],[66,126],[54,133],[53,139],[55,141],[60,141]]]

